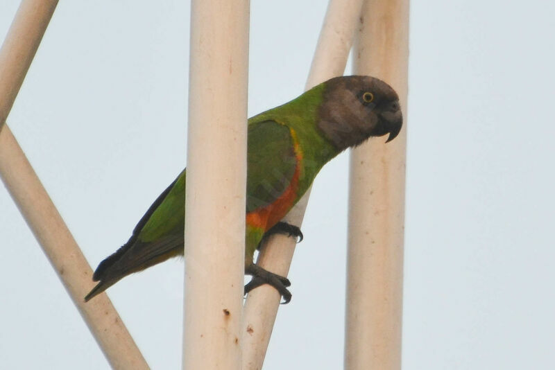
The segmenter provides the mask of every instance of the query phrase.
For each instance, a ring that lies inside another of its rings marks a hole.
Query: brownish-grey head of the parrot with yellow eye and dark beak
[[[370,136],[389,134],[395,139],[403,118],[399,96],[386,82],[370,76],[344,76],[327,80],[318,112],[318,128],[343,150]]]

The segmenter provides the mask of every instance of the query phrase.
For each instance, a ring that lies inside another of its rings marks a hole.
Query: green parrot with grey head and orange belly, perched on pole
[[[245,293],[267,283],[284,303],[291,300],[287,278],[253,263],[259,243],[273,233],[302,239],[298,227],[280,220],[318,171],[370,136],[389,134],[386,142],[393,140],[401,127],[398,95],[369,76],[332,78],[248,120],[245,274],[253,278]],[[139,220],[128,242],[100,263],[92,278],[99,283],[85,301],[128,274],[183,254],[186,176],[183,170]]]

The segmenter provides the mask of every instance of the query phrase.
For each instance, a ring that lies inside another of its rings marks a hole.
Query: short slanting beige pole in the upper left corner
[[[23,0],[0,49],[0,127],[12,109],[58,0]]]

